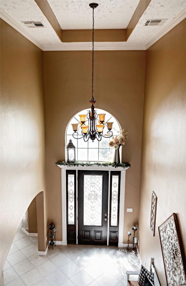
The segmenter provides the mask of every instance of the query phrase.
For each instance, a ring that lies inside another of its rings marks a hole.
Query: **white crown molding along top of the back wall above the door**
[[[119,46],[108,46],[108,47],[95,47],[94,51],[128,51],[128,50],[146,50],[145,47],[142,46],[126,46],[126,47],[119,47]],[[43,51],[92,51],[92,47],[43,47]]]

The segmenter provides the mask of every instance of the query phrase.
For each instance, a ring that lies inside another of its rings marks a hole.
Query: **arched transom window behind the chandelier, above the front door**
[[[121,128],[117,119],[112,116],[110,113],[106,112],[105,110],[96,108],[97,114],[99,113],[106,113],[105,115],[105,122],[111,121],[114,122],[112,126],[113,135],[117,135],[117,131]],[[66,129],[66,144],[68,144],[69,140],[71,139],[74,146],[76,146],[76,160],[80,162],[112,162],[114,149],[108,146],[108,143],[112,140],[111,138],[104,138],[102,137],[101,141],[97,141],[96,139],[94,142],[92,140],[88,140],[88,142],[84,142],[83,138],[75,139],[73,134],[73,129],[71,124],[78,123],[80,121],[78,114],[87,114],[87,110],[82,110],[78,112],[72,119],[69,121]],[[88,121],[88,119],[87,119]],[[86,124],[86,123],[85,123]],[[104,127],[105,134],[107,133],[108,129],[105,125]],[[103,131],[104,133],[104,131]],[[81,127],[78,127],[78,137],[82,137],[81,135]],[[77,138],[76,136],[76,138]],[[67,159],[67,158],[66,158]]]

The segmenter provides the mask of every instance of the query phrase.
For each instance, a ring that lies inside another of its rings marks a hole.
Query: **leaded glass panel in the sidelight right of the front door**
[[[112,176],[110,226],[117,226],[119,176]]]

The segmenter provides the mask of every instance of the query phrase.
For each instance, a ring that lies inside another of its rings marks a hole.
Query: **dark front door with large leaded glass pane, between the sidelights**
[[[108,171],[78,171],[78,244],[107,245]]]

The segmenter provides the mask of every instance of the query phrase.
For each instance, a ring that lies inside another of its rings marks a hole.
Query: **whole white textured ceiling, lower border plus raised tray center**
[[[88,6],[90,0],[48,1],[63,29],[92,27],[92,10]],[[43,49],[92,49],[91,42],[62,43],[34,0],[1,0],[0,3],[1,9],[22,26],[26,33],[42,44]],[[139,0],[102,0],[98,3],[99,6],[96,8],[98,10],[95,10],[95,28],[126,28]],[[60,5],[64,5],[65,8],[61,8]],[[95,43],[94,47],[95,49],[145,49],[153,37],[158,35],[185,8],[186,0],[151,0],[127,42],[99,42]],[[60,13],[62,13],[61,16]],[[168,20],[163,26],[144,26],[147,19],[158,18]],[[42,21],[45,27],[27,28],[22,21]]]

